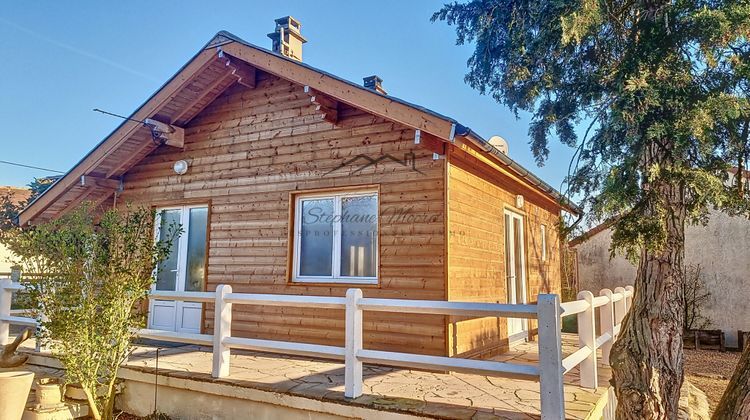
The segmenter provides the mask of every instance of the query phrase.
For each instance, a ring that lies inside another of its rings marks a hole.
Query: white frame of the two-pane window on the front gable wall
[[[341,218],[333,222],[333,247],[330,276],[302,276],[300,269],[300,249],[302,245],[302,202],[309,199],[333,199],[334,216],[341,215],[343,198],[372,196],[378,200],[378,211],[375,234],[375,276],[348,277],[341,275]],[[377,189],[319,192],[299,194],[294,199],[294,260],[292,261],[292,282],[294,283],[340,283],[340,284],[378,284],[380,274],[380,196]]]

